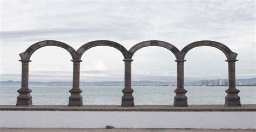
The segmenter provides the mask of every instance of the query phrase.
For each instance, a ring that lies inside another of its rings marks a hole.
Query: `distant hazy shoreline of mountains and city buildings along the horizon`
[[[256,86],[256,78],[236,79],[237,86]],[[72,86],[72,82],[29,82],[30,86]],[[185,86],[228,86],[228,79],[198,80],[185,82]],[[21,81],[0,81],[0,86],[18,86]],[[124,86],[124,81],[86,82],[80,81],[80,86]],[[132,86],[177,86],[177,82],[161,82],[152,80],[132,80]]]

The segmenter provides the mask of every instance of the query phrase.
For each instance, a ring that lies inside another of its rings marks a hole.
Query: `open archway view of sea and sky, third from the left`
[[[144,47],[132,59],[134,105],[172,105],[177,85],[173,53],[163,47]]]

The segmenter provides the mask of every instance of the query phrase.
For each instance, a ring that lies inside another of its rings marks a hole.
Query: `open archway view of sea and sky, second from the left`
[[[80,64],[84,105],[120,105],[124,89],[123,54],[108,46],[92,47]]]

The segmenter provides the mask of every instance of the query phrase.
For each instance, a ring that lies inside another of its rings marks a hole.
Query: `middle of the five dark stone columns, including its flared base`
[[[131,59],[125,59],[124,61],[124,93],[122,97],[122,107],[134,107],[134,98],[132,96],[132,61]]]

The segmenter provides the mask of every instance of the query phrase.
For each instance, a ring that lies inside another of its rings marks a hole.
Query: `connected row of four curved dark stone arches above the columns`
[[[171,43],[158,41],[158,40],[150,40],[150,41],[143,41],[143,42],[137,43],[136,45],[131,47],[130,50],[127,50],[124,46],[120,45],[117,42],[113,42],[109,40],[91,41],[91,42],[85,43],[83,46],[78,48],[78,50],[73,49],[71,46],[63,42],[59,42],[55,40],[45,40],[45,41],[34,43],[28,49],[26,49],[25,52],[19,55],[21,56],[22,60],[30,60],[31,55],[37,49],[45,46],[57,46],[57,47],[64,48],[70,53],[73,60],[79,60],[82,57],[82,55],[86,52],[86,50],[96,46],[110,46],[110,47],[116,48],[123,54],[124,59],[132,59],[133,54],[136,53],[137,50],[143,47],[148,47],[148,46],[164,47],[170,50],[174,54],[176,59],[184,59],[189,50],[199,46],[211,46],[211,47],[218,48],[219,50],[221,50],[221,52],[223,52],[226,55],[227,60],[235,59],[237,57],[237,53],[232,52],[232,50],[227,46],[225,46],[224,44],[220,42],[208,41],[208,40],[192,42],[186,47],[184,47],[182,50],[179,50],[178,48],[173,46]]]

